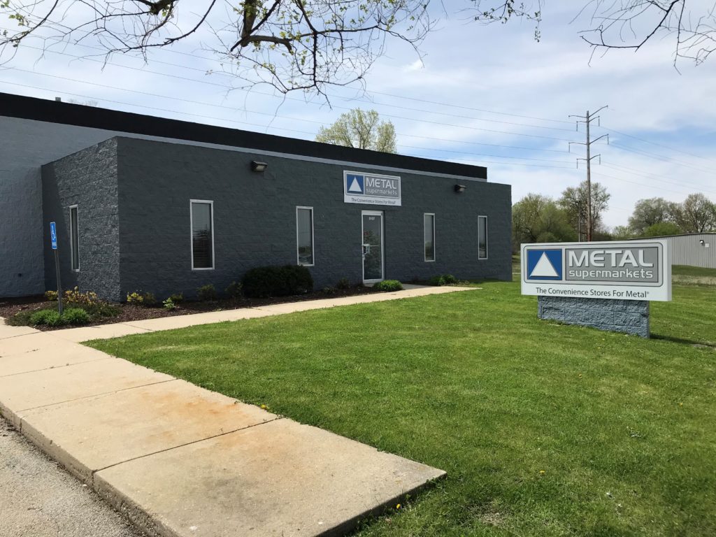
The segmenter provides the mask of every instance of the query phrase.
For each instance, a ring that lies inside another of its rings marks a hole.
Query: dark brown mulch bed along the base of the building
[[[322,291],[314,291],[308,294],[294,296],[278,296],[271,299],[220,299],[211,302],[183,301],[178,304],[177,309],[163,309],[161,304],[156,306],[135,306],[134,304],[114,303],[120,309],[120,314],[114,317],[104,317],[92,321],[83,326],[97,326],[98,324],[112,324],[128,321],[142,321],[143,319],[158,319],[159,317],[173,317],[176,315],[188,315],[202,313],[203,311],[222,311],[225,309],[253,308],[257,306],[269,306],[271,304],[286,304],[306,300],[337,299],[342,296],[356,296],[362,294],[379,293],[372,287],[356,286],[349,289],[336,289],[333,293],[327,294]],[[38,309],[57,309],[57,302],[45,300],[43,295],[22,296],[19,298],[0,299],[0,317],[9,317],[20,311],[37,311]],[[72,326],[35,326],[39,330],[57,330],[72,328]]]

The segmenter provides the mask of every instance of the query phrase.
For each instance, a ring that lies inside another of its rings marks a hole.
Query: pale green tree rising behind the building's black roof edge
[[[333,125],[319,129],[316,142],[396,153],[395,127],[381,121],[375,110],[355,108],[341,114]]]

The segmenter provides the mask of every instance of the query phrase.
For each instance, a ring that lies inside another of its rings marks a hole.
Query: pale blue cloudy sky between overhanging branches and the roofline
[[[305,139],[350,108],[374,108],[395,124],[399,153],[485,165],[489,180],[512,185],[513,202],[531,192],[558,196],[585,178],[584,164],[576,168],[583,147],[569,153],[569,141],[584,142],[584,129],[569,115],[609,105],[593,135],[609,133],[610,145],[594,145],[602,160],[592,168],[612,195],[607,226],[626,223],[642,198],[702,192],[716,201],[716,59],[680,63],[679,73],[669,39],[591,58],[578,34],[590,21],[572,21],[581,5],[546,6],[540,42],[527,22],[484,26],[437,11],[442,19],[420,47],[422,59],[388,42],[365,92],[329,89],[330,105],[272,95],[269,87],[231,89],[241,81],[221,73],[203,46],[207,34],[153,51],[146,64],[89,58],[99,54],[92,42],[42,54],[42,41],[28,39],[4,64],[0,91]]]

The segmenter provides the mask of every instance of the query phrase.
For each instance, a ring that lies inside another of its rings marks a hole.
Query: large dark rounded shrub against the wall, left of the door
[[[243,276],[243,293],[251,298],[304,294],[313,291],[313,277],[301,265],[259,266]]]

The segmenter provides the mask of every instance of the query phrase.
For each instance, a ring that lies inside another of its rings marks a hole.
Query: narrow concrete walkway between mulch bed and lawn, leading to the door
[[[144,321],[131,321],[115,324],[100,324],[99,326],[82,326],[55,330],[54,336],[72,342],[87,342],[92,339],[111,339],[112,337],[128,336],[130,334],[143,334],[159,330],[172,330],[211,324],[224,321],[239,321],[241,319],[254,319],[271,315],[295,313],[296,311],[309,311],[311,309],[333,308],[336,306],[349,306],[350,304],[369,304],[395,299],[410,299],[416,296],[431,294],[455,293],[456,291],[474,291],[477,287],[430,287],[405,284],[405,289],[392,293],[363,294],[357,296],[342,296],[338,299],[306,300],[303,302],[286,302],[270,306],[257,306],[255,308],[226,309],[223,311],[208,311],[200,314],[178,315],[160,317],[159,319],[146,319]]]

